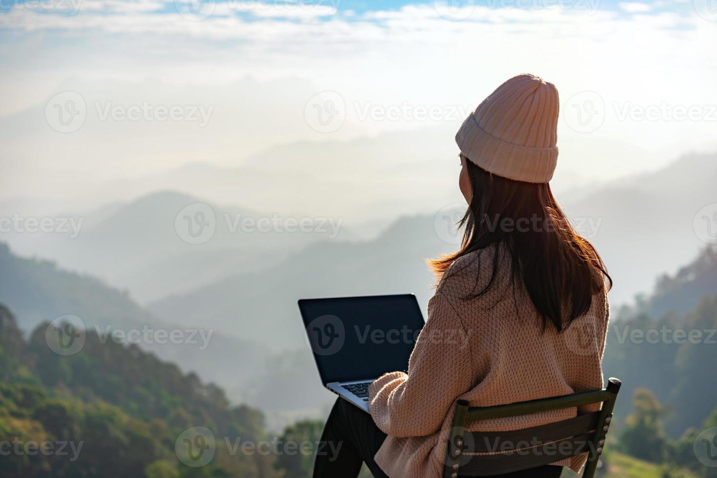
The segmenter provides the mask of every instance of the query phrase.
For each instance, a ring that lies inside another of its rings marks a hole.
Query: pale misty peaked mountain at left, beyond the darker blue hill
[[[206,240],[194,243],[189,228],[195,233],[203,230],[195,220],[205,216],[207,228],[214,228],[214,232]],[[265,267],[306,244],[333,234],[347,234],[340,222],[335,221],[332,229],[332,223],[327,221],[321,226],[316,218],[309,218],[315,225],[310,231],[295,227],[289,232],[274,229],[271,224],[262,230],[256,221],[288,216],[207,204],[171,191],[143,196],[130,204],[105,206],[86,215],[65,217],[79,226],[74,236],[72,231],[14,232],[3,234],[3,238],[19,254],[51,258],[65,269],[90,273],[110,285],[129,290],[132,297],[141,301],[193,290],[237,272]]]

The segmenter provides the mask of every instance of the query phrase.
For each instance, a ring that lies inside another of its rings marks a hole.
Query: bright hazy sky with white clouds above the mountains
[[[395,138],[399,167],[435,138],[442,168],[522,72],[559,89],[565,188],[717,150],[715,0],[0,0],[0,41],[0,201],[100,206],[137,193],[108,181],[165,188],[196,163],[280,173],[272,152],[313,143],[361,164],[352,142]]]

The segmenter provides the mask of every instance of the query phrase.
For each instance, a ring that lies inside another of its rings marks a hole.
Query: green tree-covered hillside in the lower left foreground
[[[0,476],[284,476],[274,454],[235,447],[270,440],[262,412],[231,406],[219,387],[134,345],[101,343],[92,330],[78,353],[58,355],[46,329],[43,323],[24,340],[0,305],[0,441],[11,444]],[[198,426],[212,441],[196,439]],[[183,438],[206,443],[214,457],[196,467],[196,450],[184,453]]]

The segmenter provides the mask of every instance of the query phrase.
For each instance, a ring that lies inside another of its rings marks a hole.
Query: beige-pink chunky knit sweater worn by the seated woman
[[[501,248],[502,251],[502,248]],[[488,284],[493,257],[498,268]],[[376,463],[391,478],[440,478],[455,403],[493,406],[603,388],[607,334],[604,290],[563,333],[543,330],[525,286],[511,281],[511,259],[488,247],[457,259],[428,303],[428,320],[408,373],[391,372],[369,387],[369,410],[388,437]],[[508,431],[573,418],[599,405],[468,422],[470,431]],[[586,455],[556,464],[574,471]],[[480,459],[475,457],[474,459]]]

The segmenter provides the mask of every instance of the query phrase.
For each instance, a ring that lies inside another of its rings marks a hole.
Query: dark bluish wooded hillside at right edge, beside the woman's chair
[[[606,376],[622,378],[621,394],[645,387],[668,408],[665,431],[700,426],[717,406],[717,247],[707,247],[650,297],[614,315],[603,360]],[[632,411],[617,403],[617,414]]]

